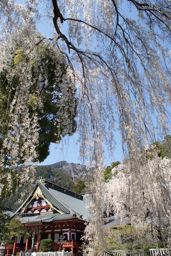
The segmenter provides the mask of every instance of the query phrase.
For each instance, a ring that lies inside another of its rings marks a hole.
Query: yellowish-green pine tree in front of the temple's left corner
[[[30,236],[18,218],[11,219],[11,221],[5,225],[4,232],[2,233],[2,241],[5,244],[10,243],[11,237],[13,236]]]

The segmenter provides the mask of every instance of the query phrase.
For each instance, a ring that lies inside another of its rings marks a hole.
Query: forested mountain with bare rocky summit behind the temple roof
[[[86,167],[79,163],[68,163],[61,161],[52,165],[36,166],[34,184],[25,183],[17,187],[11,196],[7,196],[1,203],[2,206],[12,208],[14,211],[18,209],[22,202],[26,200],[29,193],[33,190],[37,177],[42,176],[45,180],[56,183],[57,185],[73,190],[73,186],[77,180],[83,176]],[[22,166],[18,167],[18,171],[22,172]],[[21,193],[24,197],[21,199]]]

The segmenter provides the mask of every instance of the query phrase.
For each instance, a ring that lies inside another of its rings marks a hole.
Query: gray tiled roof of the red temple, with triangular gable
[[[50,202],[50,204],[58,211],[63,211],[64,214],[60,214],[57,211],[47,212],[47,213],[38,213],[38,214],[21,214],[22,223],[28,222],[51,222],[53,220],[62,220],[62,219],[71,219],[73,214],[76,214],[77,219],[80,218],[80,215],[86,216],[88,210],[85,203],[88,203],[90,198],[84,199],[82,195],[76,194],[68,189],[62,188],[54,183],[43,180],[42,178],[37,180],[36,186],[25,200],[25,202],[18,208],[12,217],[16,213],[20,213],[21,209],[25,207],[26,203],[29,203],[36,188],[39,187],[43,196]],[[29,219],[29,221],[28,221]]]

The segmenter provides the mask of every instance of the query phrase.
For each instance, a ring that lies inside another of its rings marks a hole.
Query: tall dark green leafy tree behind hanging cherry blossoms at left
[[[67,121],[71,124],[71,129],[68,130],[65,123],[60,125],[60,116],[58,114],[59,106],[61,106],[61,98],[59,97],[61,94],[60,84],[69,68],[60,51],[43,42],[37,45],[31,54],[31,56],[33,56],[31,69],[28,69],[30,58],[19,45],[11,51],[11,55],[12,61],[9,64],[9,67],[0,72],[0,150],[3,148],[3,141],[9,129],[11,118],[10,104],[13,102],[16,91],[20,89],[22,84],[20,74],[22,74],[22,70],[25,70],[26,74],[30,74],[29,72],[31,71],[29,80],[31,86],[29,87],[29,98],[27,102],[29,117],[32,118],[33,114],[36,113],[38,117],[37,127],[40,127],[38,130],[38,145],[36,147],[37,158],[33,159],[33,161],[38,160],[42,162],[49,155],[50,143],[60,141],[61,135],[65,136],[65,134],[68,134],[71,136],[76,131],[76,89],[73,89],[68,82],[67,92],[69,95],[73,96],[73,100],[68,99],[68,108],[67,110],[65,109],[68,116]],[[57,66],[59,69],[58,76],[56,75]],[[37,91],[39,91],[39,93],[37,93]],[[71,109],[74,109],[74,115],[71,114]],[[13,111],[15,111],[15,107]],[[22,118],[20,122],[22,123]],[[24,141],[21,137],[19,141],[20,148],[22,148],[23,143]],[[4,166],[10,167],[10,148],[8,148],[8,150],[4,149],[3,153],[5,160]],[[23,163],[25,153],[16,156],[16,159],[18,164]],[[1,168],[0,175],[5,176],[4,173],[7,171],[7,169]],[[11,175],[13,190],[15,190],[15,173],[11,173]],[[4,187],[1,200],[6,196],[8,181],[3,179],[2,183]]]

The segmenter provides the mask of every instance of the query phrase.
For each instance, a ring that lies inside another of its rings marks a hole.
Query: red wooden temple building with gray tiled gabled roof
[[[62,236],[63,250],[79,255],[89,200],[90,195],[76,194],[39,177],[29,197],[12,216],[20,219],[30,237],[15,237],[13,247],[6,247],[7,256],[31,250],[33,232],[36,233],[34,251],[38,252],[42,239],[52,239],[53,249],[58,251],[60,246],[56,241]]]

